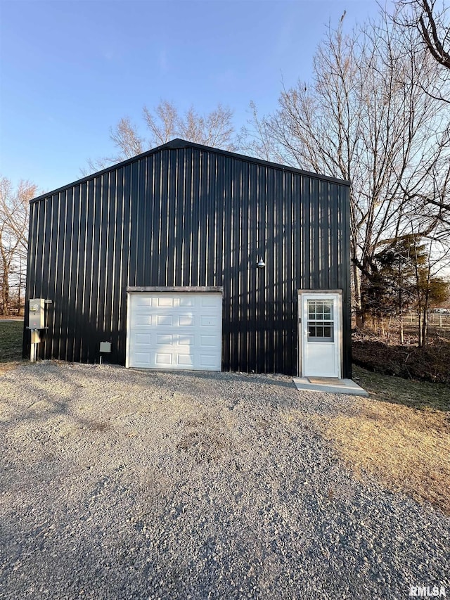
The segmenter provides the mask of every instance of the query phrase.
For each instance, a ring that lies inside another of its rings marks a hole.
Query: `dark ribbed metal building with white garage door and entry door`
[[[166,312],[130,317],[139,293]],[[351,376],[348,182],[176,139],[32,200],[27,300],[52,301],[38,357],[98,362],[108,341],[109,362],[142,366],[139,322],[174,343],[167,310],[189,293],[221,298],[221,369]],[[334,374],[313,366],[333,343]]]

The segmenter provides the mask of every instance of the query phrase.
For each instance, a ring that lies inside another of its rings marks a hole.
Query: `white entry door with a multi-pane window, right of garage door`
[[[341,376],[342,298],[338,293],[300,293],[302,376]]]

